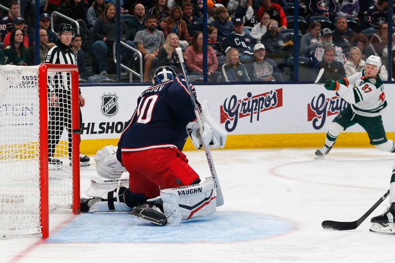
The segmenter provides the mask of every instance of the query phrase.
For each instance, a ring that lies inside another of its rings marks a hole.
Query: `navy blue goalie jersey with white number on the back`
[[[194,92],[196,100],[195,88]],[[177,147],[182,150],[188,137],[185,126],[196,120],[187,83],[181,77],[152,86],[139,96],[137,108],[118,142],[121,151]]]

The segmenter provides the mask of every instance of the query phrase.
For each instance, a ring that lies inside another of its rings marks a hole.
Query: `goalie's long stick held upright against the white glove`
[[[195,115],[196,115],[196,119],[197,119],[197,124],[199,125],[200,136],[202,136],[203,135],[203,125],[201,123],[201,118],[200,118],[199,111],[197,109],[197,104],[195,102],[194,94],[193,94],[191,87],[190,87],[190,82],[189,82],[189,78],[187,75],[187,70],[185,68],[184,57],[182,55],[181,47],[177,47],[176,52],[177,52],[178,58],[180,59],[181,69],[182,69],[182,72],[185,76],[185,80],[187,82],[187,88],[189,91],[189,95],[191,96],[192,104],[194,105],[194,111],[195,111]],[[210,148],[208,147],[208,145],[203,145],[203,148],[204,148],[204,152],[206,153],[206,158],[207,158],[207,162],[208,162],[208,167],[210,168],[210,171],[211,171],[211,176],[214,178],[214,181],[215,181],[215,191],[217,192],[217,206],[221,206],[224,204],[224,196],[222,195],[221,186],[219,185],[217,171],[215,170],[213,158],[211,156],[211,151],[210,151]]]

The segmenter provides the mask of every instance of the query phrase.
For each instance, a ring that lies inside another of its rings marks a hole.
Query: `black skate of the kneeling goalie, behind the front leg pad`
[[[129,213],[129,215],[148,221],[155,225],[166,225],[167,218],[163,214],[160,207],[161,207],[160,202],[144,203],[142,205],[135,207],[133,211]]]

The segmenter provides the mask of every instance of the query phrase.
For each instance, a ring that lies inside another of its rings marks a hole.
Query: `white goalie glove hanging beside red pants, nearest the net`
[[[105,146],[95,156],[97,175],[106,179],[119,179],[125,167],[117,159],[117,147]]]

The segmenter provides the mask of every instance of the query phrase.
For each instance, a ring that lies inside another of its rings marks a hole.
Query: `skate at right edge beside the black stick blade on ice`
[[[395,235],[395,203],[392,203],[383,214],[374,217],[370,220],[372,225],[370,226],[370,232],[376,232],[379,234]]]

